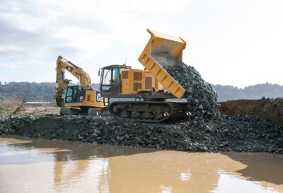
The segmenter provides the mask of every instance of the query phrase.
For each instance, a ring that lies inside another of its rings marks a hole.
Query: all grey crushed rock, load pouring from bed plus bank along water
[[[220,115],[215,91],[192,66],[172,66],[176,61],[162,54],[155,59],[187,91],[191,115],[184,122],[150,124],[110,115],[0,115],[0,135],[179,151],[283,153],[279,124],[253,115]]]

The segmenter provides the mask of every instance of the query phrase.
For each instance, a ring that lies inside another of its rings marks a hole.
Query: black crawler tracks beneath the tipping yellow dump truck
[[[187,119],[186,102],[117,101],[109,107],[111,115],[136,122],[171,122]]]

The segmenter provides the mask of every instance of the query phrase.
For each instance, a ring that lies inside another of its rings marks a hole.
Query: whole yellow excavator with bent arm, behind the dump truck
[[[100,90],[91,88],[91,78],[79,66],[59,56],[57,59],[57,87],[54,99],[61,107],[60,115],[100,115],[108,106],[108,99],[101,98]],[[75,76],[81,85],[68,86],[65,71]],[[65,97],[63,96],[67,90]]]

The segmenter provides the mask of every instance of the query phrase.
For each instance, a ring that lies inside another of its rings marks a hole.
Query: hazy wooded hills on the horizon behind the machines
[[[74,85],[74,83],[70,83]],[[9,82],[1,84],[0,82],[0,99],[19,98],[26,101],[50,101],[54,95],[56,83],[29,83],[29,82]],[[99,84],[93,83],[93,88],[98,89]],[[218,93],[219,101],[236,100],[236,99],[260,99],[283,97],[283,86],[278,84],[257,84],[238,88],[235,86],[213,85],[214,90]]]

